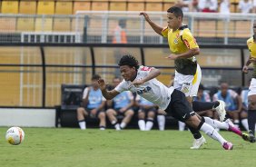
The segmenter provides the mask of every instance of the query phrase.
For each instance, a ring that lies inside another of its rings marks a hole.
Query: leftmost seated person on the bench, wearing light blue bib
[[[85,117],[87,116],[90,116],[92,118],[99,118],[100,130],[105,129],[106,115],[103,109],[104,109],[106,100],[103,97],[101,90],[99,89],[98,80],[100,78],[101,77],[98,74],[95,74],[92,77],[92,85],[84,89],[82,106],[76,110],[77,120],[82,130],[86,129]]]

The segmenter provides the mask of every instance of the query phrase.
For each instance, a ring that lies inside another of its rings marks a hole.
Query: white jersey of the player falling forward
[[[141,80],[146,77],[151,69],[151,67],[140,66],[135,80]],[[171,95],[174,90],[173,87],[168,88],[155,78],[138,86],[134,86],[131,81],[123,80],[123,82],[119,83],[114,89],[119,93],[123,91],[137,93],[146,100],[157,104],[162,110],[165,110],[171,102]]]

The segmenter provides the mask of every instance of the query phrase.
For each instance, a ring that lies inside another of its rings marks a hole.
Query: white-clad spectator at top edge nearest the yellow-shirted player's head
[[[217,0],[199,0],[198,8],[200,12],[217,12],[218,1]]]

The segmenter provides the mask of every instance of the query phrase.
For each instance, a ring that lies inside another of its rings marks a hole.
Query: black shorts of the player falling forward
[[[174,89],[171,95],[171,102],[165,109],[166,113],[170,113],[175,119],[185,122],[195,113],[192,111],[191,104],[187,101],[185,94]]]

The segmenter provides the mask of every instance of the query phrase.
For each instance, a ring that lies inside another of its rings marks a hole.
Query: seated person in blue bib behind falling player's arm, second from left
[[[119,77],[114,77],[113,86],[116,87],[119,83],[121,83],[121,79]],[[117,131],[125,128],[125,126],[130,123],[131,119],[133,118],[133,104],[133,93],[130,91],[119,93],[113,98],[113,100],[107,101],[108,109],[106,114],[110,123],[113,124]],[[121,124],[118,123],[116,118],[117,115],[124,116]]]

